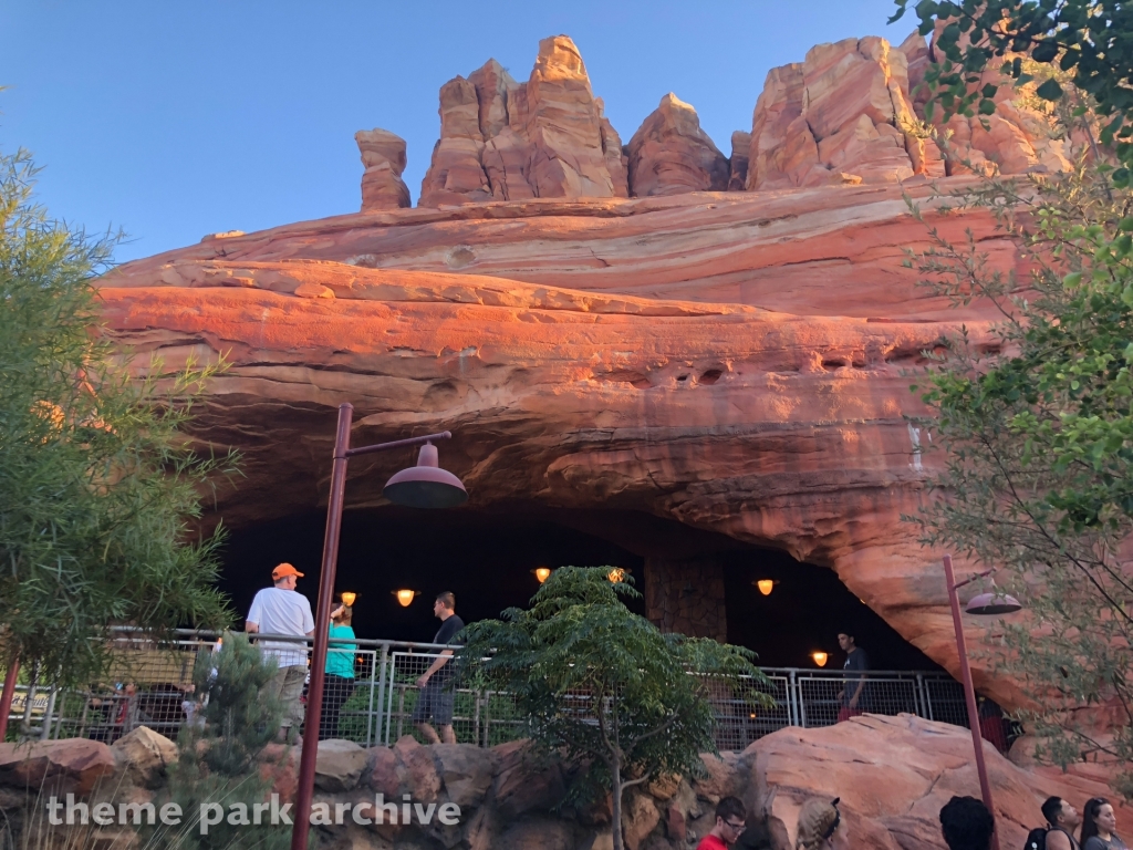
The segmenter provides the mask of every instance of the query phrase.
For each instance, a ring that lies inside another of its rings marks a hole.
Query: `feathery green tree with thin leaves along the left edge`
[[[211,476],[184,435],[213,368],[139,367],[102,324],[91,238],[33,199],[0,154],[0,664],[61,686],[105,670],[108,626],[223,626],[219,533],[197,539]]]

